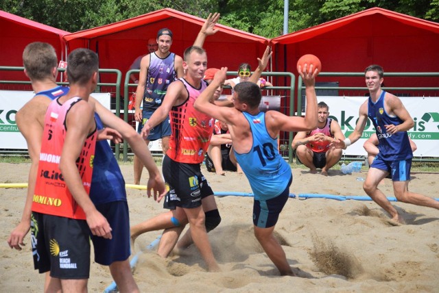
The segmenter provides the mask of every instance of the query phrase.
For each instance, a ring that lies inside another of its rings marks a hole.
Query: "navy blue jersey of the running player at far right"
[[[378,136],[379,155],[388,161],[406,160],[413,157],[412,148],[407,131],[398,131],[390,134],[385,130],[384,125],[400,125],[403,123],[398,116],[389,116],[385,112],[385,91],[383,91],[375,103],[368,99],[368,117],[372,120]]]

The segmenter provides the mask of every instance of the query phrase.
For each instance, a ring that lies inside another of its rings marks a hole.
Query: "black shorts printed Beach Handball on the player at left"
[[[90,229],[86,220],[32,212],[34,268],[58,279],[88,279]]]

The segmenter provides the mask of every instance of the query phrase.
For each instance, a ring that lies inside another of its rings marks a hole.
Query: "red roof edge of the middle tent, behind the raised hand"
[[[204,19],[199,18],[197,16],[193,16],[191,14],[187,14],[184,12],[179,12],[177,10],[173,10],[171,8],[164,8],[161,10],[156,10],[154,12],[149,12],[147,14],[142,14],[140,16],[136,16],[133,18],[128,18],[123,21],[119,21],[117,23],[110,23],[109,25],[102,25],[101,27],[95,27],[93,29],[85,29],[83,31],[77,31],[72,34],[67,34],[64,36],[64,40],[67,42],[69,40],[73,40],[75,38],[96,38],[99,36],[105,36],[106,34],[112,34],[116,31],[132,29],[134,27],[139,27],[140,25],[145,25],[147,23],[154,23],[155,21],[162,21],[166,18],[176,17],[183,19],[185,21],[190,21],[191,23],[197,23],[199,25],[203,25]],[[247,38],[250,40],[254,40],[257,42],[268,43],[269,39],[264,38],[263,36],[258,36],[255,34],[250,34],[246,31],[241,31],[239,29],[234,29],[233,27],[228,27],[226,25],[217,24],[216,27],[219,28],[220,31],[223,31],[227,34],[234,34],[236,36],[241,36],[243,38]]]

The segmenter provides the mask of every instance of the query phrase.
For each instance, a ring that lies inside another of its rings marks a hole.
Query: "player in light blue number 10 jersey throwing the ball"
[[[211,103],[218,86],[226,80],[227,68],[215,74],[211,84],[195,101],[195,109],[226,121],[230,129],[237,161],[250,182],[254,193],[253,224],[254,235],[272,260],[281,275],[294,276],[287,262],[281,244],[274,238],[274,225],[289,197],[292,183],[291,168],[278,152],[279,131],[309,131],[317,127],[317,99],[314,89],[312,66],[300,69],[307,86],[307,110],[305,118],[289,117],[276,111],[259,111],[261,89],[255,81],[270,59],[269,48],[250,79],[235,86],[233,103],[235,107],[218,107]]]

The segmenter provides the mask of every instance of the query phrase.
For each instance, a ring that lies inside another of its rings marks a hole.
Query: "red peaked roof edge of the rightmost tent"
[[[402,14],[399,12],[393,12],[391,10],[385,10],[383,8],[370,8],[368,10],[357,12],[355,14],[344,16],[342,18],[337,18],[333,21],[328,21],[327,23],[322,23],[321,25],[316,25],[314,27],[309,27],[307,29],[294,31],[292,33],[285,34],[283,36],[272,38],[270,42],[272,44],[276,44],[276,43],[292,44],[294,42],[300,42],[302,40],[307,40],[309,38],[313,38],[314,36],[324,34],[327,31],[332,31],[333,29],[336,29],[338,27],[348,25],[348,23],[351,23],[352,21],[355,21],[360,17],[369,16],[372,14],[383,14],[384,16],[393,18],[394,20],[399,21],[401,23],[405,23],[407,25],[414,25],[422,29],[428,29],[430,31],[439,33],[439,23],[434,23],[433,21],[425,21],[424,19],[421,18],[416,18],[414,16]]]

